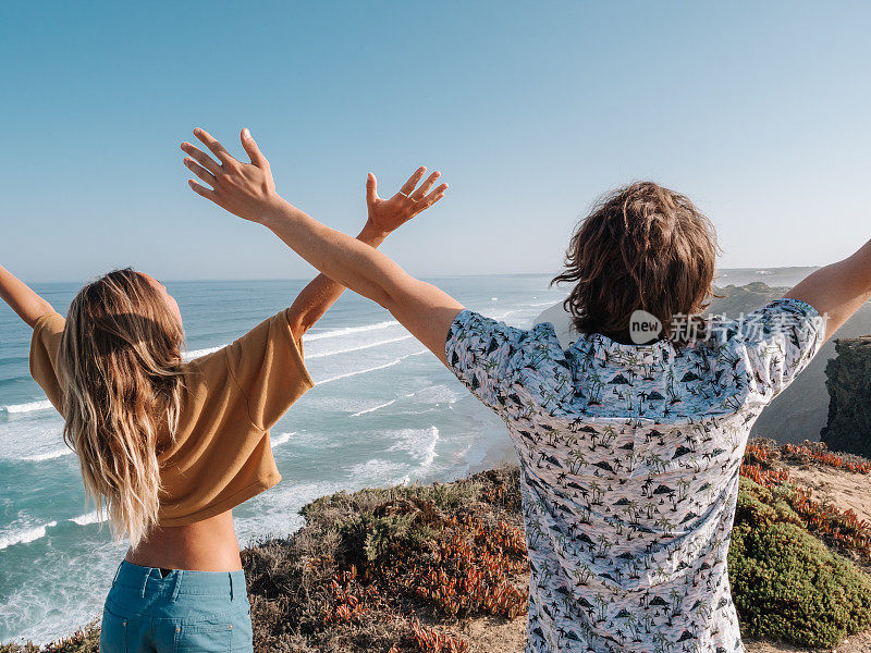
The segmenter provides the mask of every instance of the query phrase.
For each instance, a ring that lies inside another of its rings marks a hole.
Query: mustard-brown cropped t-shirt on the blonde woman
[[[285,309],[234,343],[184,364],[175,438],[158,439],[163,482],[159,526],[207,519],[281,480],[269,429],[314,386]],[[62,410],[58,352],[65,321],[52,312],[34,325],[30,374]]]

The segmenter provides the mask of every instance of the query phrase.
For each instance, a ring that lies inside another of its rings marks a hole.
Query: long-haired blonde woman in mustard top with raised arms
[[[377,247],[441,197],[419,169],[390,199],[367,187],[358,242]],[[417,187],[417,188],[416,188]],[[344,287],[320,275],[231,345],[182,359],[181,313],[148,274],[89,283],[66,319],[0,268],[0,296],[33,329],[30,371],[65,419],[88,496],[130,539],[100,651],[252,651],[232,508],[279,482],[269,429],[312,381],[302,337]]]

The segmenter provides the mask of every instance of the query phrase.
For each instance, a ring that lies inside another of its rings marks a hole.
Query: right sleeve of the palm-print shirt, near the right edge
[[[776,299],[738,320],[757,392],[772,399],[785,390],[820,350],[824,326],[817,309],[794,298]]]

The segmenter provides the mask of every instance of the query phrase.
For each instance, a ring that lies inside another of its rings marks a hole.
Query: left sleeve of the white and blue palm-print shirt
[[[451,324],[445,354],[457,379],[496,411],[522,404],[519,386],[551,385],[556,375],[542,368],[567,367],[550,323],[524,330],[470,310]]]

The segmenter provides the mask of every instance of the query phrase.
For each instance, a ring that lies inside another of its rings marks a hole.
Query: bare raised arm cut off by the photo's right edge
[[[808,275],[784,296],[801,299],[826,316],[825,337],[831,337],[871,297],[871,241],[843,261]]]

